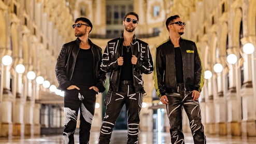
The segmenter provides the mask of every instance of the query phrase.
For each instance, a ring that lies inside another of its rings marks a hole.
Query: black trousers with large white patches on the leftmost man
[[[79,87],[79,86],[78,86]],[[77,127],[77,116],[80,109],[79,143],[87,144],[90,139],[92,118],[95,110],[96,92],[87,87],[80,90],[66,90],[64,95],[64,133],[63,143],[73,144]]]

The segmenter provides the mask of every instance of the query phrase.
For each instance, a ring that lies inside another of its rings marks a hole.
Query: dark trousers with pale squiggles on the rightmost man
[[[189,124],[196,144],[205,144],[204,126],[201,122],[201,110],[198,100],[193,100],[192,92],[185,93],[181,90],[179,93],[166,93],[168,105],[166,105],[170,124],[170,138],[172,143],[184,143],[182,133],[182,108],[187,113]]]

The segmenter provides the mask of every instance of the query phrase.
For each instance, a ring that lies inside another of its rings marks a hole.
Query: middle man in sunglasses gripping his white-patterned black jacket
[[[110,86],[99,144],[110,142],[113,127],[124,104],[127,113],[127,143],[138,143],[139,112],[145,95],[142,75],[153,71],[148,44],[136,39],[134,35],[138,20],[135,12],[126,13],[123,35],[108,41],[103,53],[101,68],[110,72]]]

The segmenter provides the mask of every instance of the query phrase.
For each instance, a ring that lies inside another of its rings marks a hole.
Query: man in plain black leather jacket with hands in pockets
[[[74,143],[80,109],[79,143],[89,143],[96,94],[104,92],[106,73],[101,70],[102,49],[88,38],[92,23],[77,18],[73,24],[77,39],[64,44],[55,66],[59,89],[64,95],[63,143]]]

